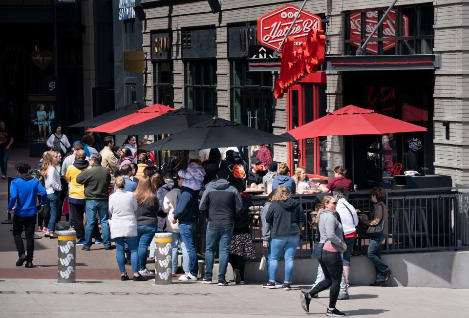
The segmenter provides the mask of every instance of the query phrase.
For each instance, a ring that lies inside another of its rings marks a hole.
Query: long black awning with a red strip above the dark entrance
[[[439,54],[326,57],[326,71],[419,70],[440,67]]]

